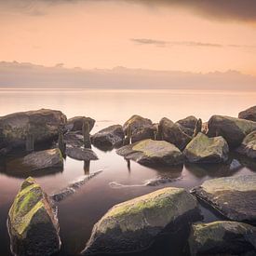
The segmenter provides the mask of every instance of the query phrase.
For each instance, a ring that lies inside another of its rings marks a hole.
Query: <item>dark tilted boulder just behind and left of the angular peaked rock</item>
[[[184,132],[180,124],[174,124],[166,117],[161,119],[158,131],[162,140],[174,144],[180,150],[183,150],[192,139],[191,136]]]

